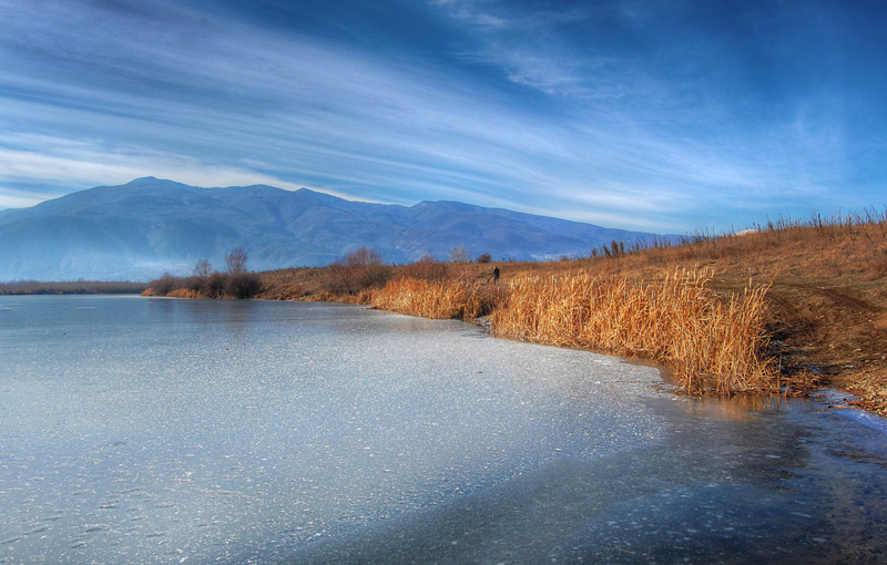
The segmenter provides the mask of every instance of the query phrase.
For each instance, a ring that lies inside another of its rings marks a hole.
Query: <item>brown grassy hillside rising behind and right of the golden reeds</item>
[[[744,235],[689,237],[680,246],[552,263],[462,264],[450,274],[485,281],[493,265],[501,282],[531,275],[585,270],[651,280],[675,268],[711,268],[712,288],[730,295],[769,285],[766,355],[791,381],[849,390],[887,414],[887,220],[883,214],[806,224],[778,222]],[[389,267],[388,277],[415,266]],[[265,298],[345,299],[329,291],[330,267],[262,274]],[[366,296],[364,296],[366,301]]]

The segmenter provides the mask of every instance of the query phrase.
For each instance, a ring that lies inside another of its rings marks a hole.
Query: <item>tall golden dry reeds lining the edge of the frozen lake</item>
[[[675,270],[650,282],[585,271],[509,285],[399,279],[374,292],[376,308],[427,318],[489,311],[493,335],[642,357],[675,371],[689,392],[777,392],[765,359],[766,287],[717,296],[710,270]]]

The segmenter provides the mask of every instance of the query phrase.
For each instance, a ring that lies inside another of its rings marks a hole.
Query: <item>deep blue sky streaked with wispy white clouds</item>
[[[660,233],[887,204],[887,4],[3,0],[0,208],[153,175]]]

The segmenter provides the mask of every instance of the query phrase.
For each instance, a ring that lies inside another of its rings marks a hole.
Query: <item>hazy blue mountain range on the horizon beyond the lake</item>
[[[268,270],[328,265],[361,246],[387,263],[446,259],[456,247],[496,260],[541,260],[653,237],[458,202],[407,207],[306,188],[197,188],[145,177],[0,210],[0,280],[184,275],[202,258],[222,269],[237,246],[246,248],[249,269]]]

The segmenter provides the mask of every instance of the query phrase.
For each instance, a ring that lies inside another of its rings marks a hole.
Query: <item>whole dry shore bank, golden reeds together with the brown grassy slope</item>
[[[491,316],[500,335],[649,357],[684,374],[690,390],[829,384],[887,414],[886,216],[781,219],[744,235],[608,246],[551,263],[424,259],[348,295],[330,290],[329,268],[283,269],[262,274],[262,296],[469,319],[507,304],[514,312]],[[489,280],[493,265],[499,285]]]

